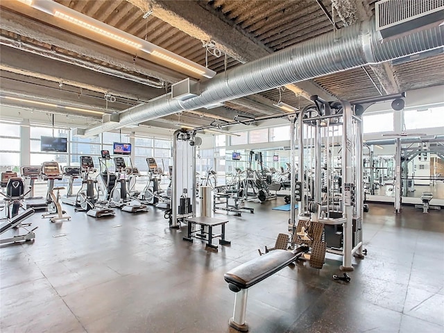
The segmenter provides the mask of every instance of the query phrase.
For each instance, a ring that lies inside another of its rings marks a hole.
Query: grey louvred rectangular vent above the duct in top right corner
[[[376,30],[382,39],[444,22],[444,0],[382,0],[375,3]]]

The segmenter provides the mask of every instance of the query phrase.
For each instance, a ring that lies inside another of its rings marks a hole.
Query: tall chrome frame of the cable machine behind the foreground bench
[[[330,142],[330,137],[327,135],[323,137],[323,126],[329,128],[330,121],[333,126],[342,126],[341,135],[341,176],[342,182],[342,194],[341,201],[339,201],[339,212],[335,212],[334,216],[330,216],[330,198],[327,198],[327,205],[323,206],[323,214],[319,218],[319,222],[325,225],[342,225],[343,239],[342,248],[332,248],[327,244],[327,252],[334,253],[336,255],[343,256],[343,264],[341,270],[352,271],[352,255],[356,253],[358,257],[362,255],[362,216],[364,213],[363,198],[364,187],[362,182],[362,121],[361,117],[358,117],[350,102],[339,101],[327,103],[321,99],[314,99],[317,108],[309,106],[302,110],[298,114],[298,119],[291,121],[291,160],[293,164],[295,161],[295,149],[296,148],[296,135],[295,130],[298,130],[298,142],[299,142],[299,170],[298,179],[301,182],[300,186],[300,201],[298,201],[298,220],[309,219],[306,207],[308,204],[308,192],[303,180],[307,175],[309,179],[309,170],[307,170],[307,161],[305,160],[305,150],[311,148],[314,153],[311,155],[311,159],[314,160],[314,188],[311,186],[311,193],[309,196],[316,202],[321,202],[322,197],[322,185],[321,185],[321,169],[325,158],[330,158],[330,147],[334,146],[334,142]],[[296,121],[297,126],[296,126]],[[322,123],[321,123],[322,122]],[[314,130],[311,133],[313,137],[307,139],[305,136],[304,128],[310,126]],[[322,147],[325,147],[325,154],[322,154]],[[355,167],[352,167],[355,166]],[[327,172],[327,181],[330,179]],[[296,171],[291,170],[291,179],[296,179]],[[327,182],[328,187],[328,182]],[[296,190],[296,183],[291,182],[291,207],[294,207],[296,198],[294,196]],[[327,189],[328,191],[329,189]],[[356,200],[355,200],[356,199]],[[353,232],[353,225],[355,228],[355,234]],[[292,232],[296,232],[296,212],[291,210],[290,227]],[[359,228],[358,228],[359,225]],[[355,237],[355,238],[353,238]],[[353,246],[353,242],[355,244]]]

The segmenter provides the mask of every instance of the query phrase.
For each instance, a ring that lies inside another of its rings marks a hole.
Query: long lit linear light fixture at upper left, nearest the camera
[[[171,65],[176,65],[185,69],[185,71],[189,71],[191,73],[196,74],[196,76],[204,76],[205,78],[212,78],[216,75],[215,71],[204,67],[202,65],[197,64],[196,62],[192,62],[191,60],[179,56],[176,53],[170,52],[166,49],[163,49],[160,46],[147,42],[146,40],[142,40],[142,38],[131,35],[130,33],[126,33],[125,31],[121,31],[114,26],[110,26],[109,24],[105,24],[97,19],[93,19],[81,12],[73,10],[67,6],[63,6],[60,3],[52,0],[17,0],[22,3],[26,3],[28,6],[31,6],[37,10],[42,12],[46,12],[49,15],[53,15],[54,17],[58,17],[66,22],[71,24],[75,24],[81,28],[85,28],[88,31],[92,31],[93,33],[97,33],[103,37],[108,37],[117,42],[121,42],[128,46],[131,46],[139,51],[145,52],[164,60],[165,62],[169,62]]]

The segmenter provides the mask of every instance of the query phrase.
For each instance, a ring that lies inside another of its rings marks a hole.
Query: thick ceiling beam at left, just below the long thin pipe
[[[4,45],[1,46],[0,69],[138,101],[149,101],[164,92],[163,89],[148,87]]]

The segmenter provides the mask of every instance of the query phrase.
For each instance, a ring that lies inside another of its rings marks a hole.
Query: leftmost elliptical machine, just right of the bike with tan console
[[[86,212],[92,217],[114,216],[116,213],[110,208],[98,205],[96,202],[96,195],[94,194],[94,185],[97,180],[89,178],[89,175],[94,173],[94,161],[91,156],[80,156],[80,171],[82,173],[82,187],[77,193],[76,202],[80,208],[76,212]],[[84,188],[86,185],[86,188]]]

